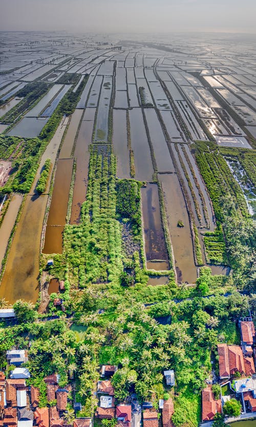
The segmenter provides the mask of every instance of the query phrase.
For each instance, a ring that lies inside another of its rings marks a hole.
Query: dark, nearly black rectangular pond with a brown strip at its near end
[[[157,270],[169,268],[157,184],[147,184],[146,187],[142,187],[141,199],[145,254],[146,260],[151,261],[150,265],[147,263],[147,268]],[[165,262],[153,263],[154,260]]]

